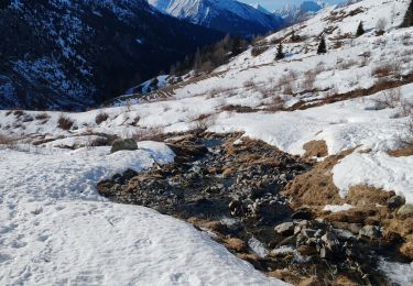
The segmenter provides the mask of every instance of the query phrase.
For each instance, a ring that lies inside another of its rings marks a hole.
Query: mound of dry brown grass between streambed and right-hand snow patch
[[[339,190],[333,182],[333,168],[338,161],[351,153],[352,150],[329,156],[289,183],[283,194],[290,198],[292,207],[344,204],[345,199],[339,197]]]

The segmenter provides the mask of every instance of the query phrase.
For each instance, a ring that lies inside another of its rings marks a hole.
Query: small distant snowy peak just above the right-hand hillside
[[[284,8],[275,10],[274,13],[281,15],[287,23],[293,24],[308,19],[325,7],[326,4],[320,1],[304,1],[298,6],[287,3]]]

